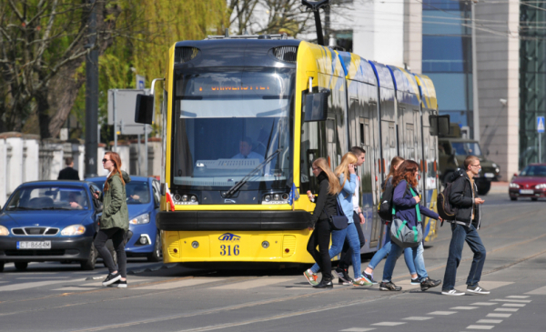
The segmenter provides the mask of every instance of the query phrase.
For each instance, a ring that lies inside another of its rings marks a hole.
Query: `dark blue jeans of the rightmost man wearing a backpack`
[[[442,287],[443,290],[450,290],[455,287],[457,267],[459,267],[464,241],[469,244],[470,250],[474,253],[467,285],[475,286],[480,282],[481,270],[485,264],[486,253],[485,246],[481,243],[480,235],[472,225],[467,227],[451,224],[450,255],[448,257],[448,264],[446,265],[446,273],[444,275],[444,284]]]

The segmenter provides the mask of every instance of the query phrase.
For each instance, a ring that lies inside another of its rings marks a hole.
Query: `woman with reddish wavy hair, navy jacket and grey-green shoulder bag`
[[[426,206],[419,205],[420,196],[419,194],[416,194],[418,193],[418,176],[419,165],[413,160],[406,160],[399,166],[392,178],[392,186],[395,186],[394,194],[392,196],[392,203],[396,211],[394,220],[404,220],[410,229],[418,228],[420,213],[429,216],[432,219],[441,220],[436,212],[431,211]],[[420,246],[422,246],[422,243],[420,243],[419,246],[410,247],[414,262],[419,259],[418,250]],[[402,289],[402,287],[397,287],[391,281],[396,260],[399,258],[402,249],[403,248],[396,242],[390,242],[389,257],[387,257],[387,262],[385,262],[385,267],[383,269],[383,280],[379,285],[380,290],[399,291]],[[427,290],[441,284],[441,280],[433,280],[428,277],[424,265],[423,271],[424,272],[420,276],[421,290]]]

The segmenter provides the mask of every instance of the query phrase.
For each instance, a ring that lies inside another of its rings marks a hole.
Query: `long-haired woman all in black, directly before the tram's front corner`
[[[312,164],[313,175],[319,180],[319,196],[317,205],[311,216],[308,228],[313,230],[309,237],[308,252],[319,264],[322,271],[322,280],[317,283],[317,275],[308,269],[303,275],[308,279],[309,284],[316,288],[332,288],[332,267],[329,257],[330,225],[329,216],[338,214],[337,195],[341,190],[338,177],[331,171],[325,158],[319,158]],[[319,251],[317,251],[319,246]]]

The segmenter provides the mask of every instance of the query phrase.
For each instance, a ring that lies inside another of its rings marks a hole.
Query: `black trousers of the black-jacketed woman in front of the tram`
[[[309,237],[308,252],[311,254],[315,262],[319,264],[322,278],[325,280],[332,279],[332,261],[329,257],[329,240],[330,240],[330,225],[328,219],[322,219],[315,224],[315,230]],[[319,251],[317,251],[319,246]]]

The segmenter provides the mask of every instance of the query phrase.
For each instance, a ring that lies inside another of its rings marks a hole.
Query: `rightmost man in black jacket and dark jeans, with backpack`
[[[466,241],[472,252],[474,259],[470,267],[470,274],[467,279],[467,292],[473,294],[490,294],[478,285],[481,277],[481,270],[485,263],[485,246],[481,243],[478,229],[481,221],[481,204],[483,199],[478,197],[478,186],[474,183],[474,176],[480,173],[480,159],[477,156],[467,156],[464,160],[464,171],[458,169],[451,178],[450,203],[457,207],[457,215],[451,223],[451,242],[450,255],[444,275],[444,284],[441,294],[450,296],[464,295],[455,289],[455,278],[457,276],[457,267],[459,267],[462,246]]]

